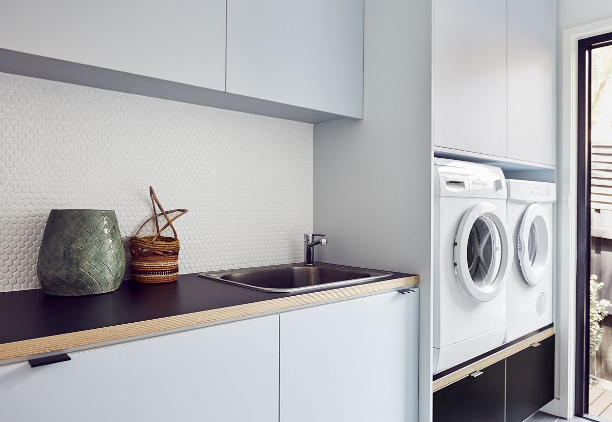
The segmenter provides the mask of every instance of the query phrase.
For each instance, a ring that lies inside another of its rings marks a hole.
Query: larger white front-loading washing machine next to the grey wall
[[[499,167],[434,161],[433,372],[458,365],[506,337],[512,238]]]

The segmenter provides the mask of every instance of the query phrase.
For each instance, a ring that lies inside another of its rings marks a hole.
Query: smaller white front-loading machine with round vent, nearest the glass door
[[[553,322],[554,183],[507,180],[507,219],[515,242],[508,278],[506,341]]]

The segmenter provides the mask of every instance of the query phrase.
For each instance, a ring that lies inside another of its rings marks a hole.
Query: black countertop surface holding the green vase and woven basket
[[[395,272],[373,282],[412,276]],[[48,296],[42,289],[0,293],[0,344],[308,293],[267,293],[196,274],[179,275],[173,283],[124,280],[116,291],[94,296]]]

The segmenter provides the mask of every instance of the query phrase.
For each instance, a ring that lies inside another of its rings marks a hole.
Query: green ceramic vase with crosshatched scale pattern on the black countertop
[[[116,290],[125,251],[110,209],[51,209],[36,273],[47,294],[85,296]]]

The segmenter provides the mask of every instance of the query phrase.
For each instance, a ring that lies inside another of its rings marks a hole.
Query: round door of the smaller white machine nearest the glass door
[[[527,207],[518,229],[518,263],[523,277],[530,285],[538,285],[551,259],[550,227],[542,205]]]

